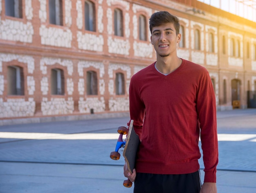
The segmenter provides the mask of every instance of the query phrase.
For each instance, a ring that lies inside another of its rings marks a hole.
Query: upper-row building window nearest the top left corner
[[[5,15],[22,18],[22,0],[5,0]]]

